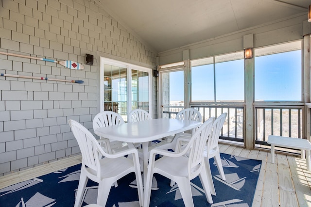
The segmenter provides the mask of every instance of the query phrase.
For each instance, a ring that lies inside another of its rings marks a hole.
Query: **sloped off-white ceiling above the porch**
[[[306,14],[311,0],[99,0],[140,41],[163,52]]]

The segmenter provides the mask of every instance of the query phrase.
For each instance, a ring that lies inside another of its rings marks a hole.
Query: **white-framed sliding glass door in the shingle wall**
[[[133,109],[151,111],[151,71],[150,68],[102,57],[101,111],[117,112],[125,122]]]

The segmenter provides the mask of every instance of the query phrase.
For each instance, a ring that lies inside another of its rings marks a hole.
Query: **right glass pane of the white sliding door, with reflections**
[[[132,70],[132,107],[149,112],[149,74]]]

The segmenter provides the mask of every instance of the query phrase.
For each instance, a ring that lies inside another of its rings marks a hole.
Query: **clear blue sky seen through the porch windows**
[[[301,100],[301,50],[254,58],[255,99]],[[244,61],[215,64],[216,100],[244,100]],[[213,64],[191,69],[192,101],[214,100]],[[170,73],[171,101],[184,100],[183,71]]]

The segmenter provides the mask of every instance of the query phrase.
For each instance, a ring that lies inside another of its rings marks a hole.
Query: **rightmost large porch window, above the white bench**
[[[255,101],[301,101],[301,41],[254,49]]]

